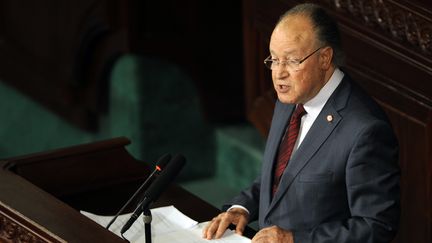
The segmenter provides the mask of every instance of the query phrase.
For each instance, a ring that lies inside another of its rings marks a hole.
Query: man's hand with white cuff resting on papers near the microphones
[[[249,214],[245,210],[232,208],[212,219],[203,230],[203,238],[207,240],[221,238],[230,224],[236,225],[236,233],[242,235],[248,221]]]

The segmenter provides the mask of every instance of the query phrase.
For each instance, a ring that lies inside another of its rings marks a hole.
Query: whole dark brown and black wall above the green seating
[[[240,0],[0,0],[0,80],[95,130],[116,58],[142,55],[186,72],[208,120],[244,121],[241,27]]]

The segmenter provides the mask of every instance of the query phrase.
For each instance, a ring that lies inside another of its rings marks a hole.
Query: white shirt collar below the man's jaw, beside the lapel
[[[329,81],[321,88],[318,94],[303,105],[308,115],[314,117],[318,116],[327,100],[342,81],[343,77],[344,73],[339,68],[336,68]]]

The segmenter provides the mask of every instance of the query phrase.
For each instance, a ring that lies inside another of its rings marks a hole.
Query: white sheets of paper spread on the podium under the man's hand
[[[165,242],[240,242],[249,243],[250,239],[237,235],[231,230],[227,230],[224,236],[218,240],[208,241],[202,238],[202,230],[208,222],[198,223],[197,221],[184,215],[174,206],[160,207],[151,209],[152,222],[152,243]],[[112,216],[100,216],[81,211],[81,213],[96,223],[105,227],[112,219]],[[123,225],[129,220],[131,214],[120,215],[110,226],[109,230],[118,236]],[[130,242],[145,242],[143,216],[140,215],[132,227],[123,235]]]

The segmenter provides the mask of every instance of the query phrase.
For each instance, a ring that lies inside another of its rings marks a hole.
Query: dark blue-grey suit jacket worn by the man
[[[243,205],[260,228],[291,230],[295,243],[390,242],[400,216],[397,140],[384,112],[346,74],[271,197],[275,156],[294,107],[276,102],[261,176],[225,208]]]

